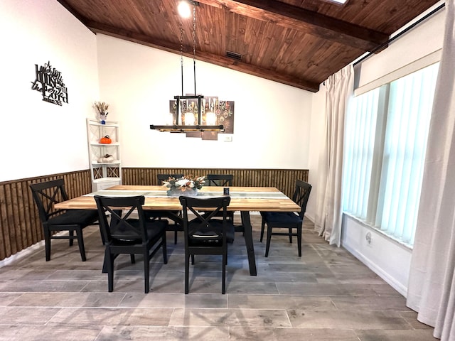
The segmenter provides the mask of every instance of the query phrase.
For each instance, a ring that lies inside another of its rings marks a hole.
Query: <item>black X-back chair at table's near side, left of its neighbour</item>
[[[95,195],[100,228],[105,242],[105,261],[107,268],[108,291],[114,290],[114,259],[119,254],[129,254],[132,263],[135,254],[144,257],[144,292],[149,292],[150,260],[161,248],[163,261],[167,264],[166,227],[167,220],[150,222],[144,216],[144,195],[133,197],[104,197]],[[132,213],[137,214],[134,217]],[[107,221],[110,215],[110,222]]]

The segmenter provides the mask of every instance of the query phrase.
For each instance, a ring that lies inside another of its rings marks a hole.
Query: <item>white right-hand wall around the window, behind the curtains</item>
[[[395,40],[378,55],[366,59],[360,67],[355,68],[356,72],[360,72],[359,85],[368,85],[380,77],[409,65],[414,60],[419,60],[441,49],[444,20],[445,12],[441,10],[432,18]],[[321,90],[323,90],[322,86]],[[321,90],[314,94],[311,112],[311,126],[316,128],[311,131],[312,136],[315,137],[312,137],[310,142],[309,175],[311,183],[314,184],[318,181],[318,172],[315,170],[317,170],[319,146],[321,146],[321,141],[316,139],[316,131],[320,131],[319,127],[322,124],[318,121],[324,119],[323,113],[325,112],[325,99],[321,97]],[[323,136],[322,131],[320,136]],[[314,217],[316,191],[311,195],[307,215]],[[368,233],[371,234],[371,244],[368,244],[365,239]],[[346,215],[343,216],[341,244],[393,288],[406,296],[412,250]]]

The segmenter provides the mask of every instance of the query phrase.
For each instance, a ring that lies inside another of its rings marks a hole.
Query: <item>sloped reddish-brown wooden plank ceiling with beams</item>
[[[95,33],[172,53],[181,53],[182,27],[183,54],[193,57],[193,20],[178,16],[178,0],[58,2]],[[200,0],[196,59],[317,92],[328,76],[437,2]]]

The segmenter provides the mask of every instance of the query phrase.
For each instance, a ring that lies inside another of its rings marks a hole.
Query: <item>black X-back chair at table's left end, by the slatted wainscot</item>
[[[97,210],[56,210],[56,203],[69,199],[63,179],[32,183],[30,188],[43,226],[45,260],[50,260],[51,239],[69,239],[70,246],[77,239],[80,257],[85,261],[87,258],[82,229],[98,220]],[[62,231],[68,231],[68,235],[55,233]]]

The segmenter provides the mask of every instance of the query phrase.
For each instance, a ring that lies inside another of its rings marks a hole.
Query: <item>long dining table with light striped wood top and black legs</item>
[[[104,190],[74,197],[55,204],[55,208],[66,210],[96,210],[95,195],[109,197],[124,197],[144,195],[144,210],[182,210],[177,196],[169,196],[168,188],[163,185],[115,185]],[[217,186],[203,186],[197,193],[197,197],[223,196],[224,188]],[[185,195],[185,192],[182,193]],[[230,204],[228,211],[239,211],[242,225],[240,231],[245,237],[250,275],[257,276],[255,247],[252,238],[252,225],[250,212],[300,212],[300,206],[292,201],[287,195],[274,187],[230,187]],[[238,231],[238,229],[236,229]]]

